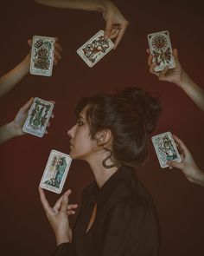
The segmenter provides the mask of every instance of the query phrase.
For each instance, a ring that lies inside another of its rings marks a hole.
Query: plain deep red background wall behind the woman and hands
[[[51,77],[27,75],[0,99],[0,125],[11,121],[31,96],[54,100],[54,121],[42,139],[26,135],[0,145],[1,255],[50,255],[54,234],[42,210],[37,187],[51,149],[68,153],[67,129],[75,122],[73,108],[84,95],[114,92],[137,85],[161,95],[163,114],[155,134],[170,130],[186,142],[204,170],[204,116],[181,89],[158,82],[147,67],[147,34],[169,30],[183,67],[203,88],[202,1],[115,1],[130,26],[118,49],[89,69],[76,50],[105,28],[99,13],[60,10],[34,1],[1,1],[0,75],[29,52],[34,35],[58,36],[63,59]],[[204,187],[187,181],[176,169],[162,170],[150,144],[150,157],[137,175],[153,195],[162,228],[161,255],[203,255]],[[80,202],[83,187],[92,181],[86,163],[73,161],[65,187]],[[56,194],[47,193],[51,202]],[[74,217],[72,220],[73,225]],[[29,251],[29,252],[28,252]]]

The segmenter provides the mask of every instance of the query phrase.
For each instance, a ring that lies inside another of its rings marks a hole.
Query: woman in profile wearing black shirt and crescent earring
[[[133,167],[147,157],[160,112],[156,98],[137,88],[79,102],[77,124],[68,131],[70,155],[88,162],[95,181],[82,193],[73,233],[68,217],[77,205],[68,205],[71,191],[52,208],[39,188],[58,245],[54,255],[157,255],[155,207]]]

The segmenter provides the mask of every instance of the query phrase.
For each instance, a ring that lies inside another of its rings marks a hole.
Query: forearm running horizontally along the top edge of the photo
[[[108,0],[35,0],[36,3],[75,10],[104,11]]]

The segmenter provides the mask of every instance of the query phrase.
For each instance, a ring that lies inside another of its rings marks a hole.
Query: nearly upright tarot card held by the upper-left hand
[[[33,36],[30,69],[32,75],[52,75],[54,62],[54,37]]]

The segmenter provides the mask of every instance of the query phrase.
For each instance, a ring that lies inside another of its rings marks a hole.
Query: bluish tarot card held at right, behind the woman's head
[[[169,165],[167,165],[167,161],[182,161],[170,132],[153,136],[151,141],[154,145],[156,155],[162,168],[169,167]]]

